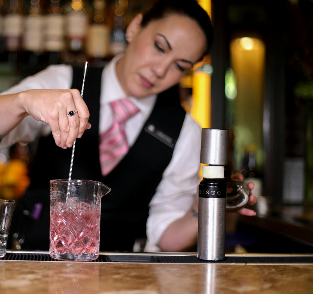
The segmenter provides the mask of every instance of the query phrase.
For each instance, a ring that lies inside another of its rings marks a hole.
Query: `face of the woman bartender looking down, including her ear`
[[[127,28],[128,47],[117,63],[117,76],[127,95],[142,98],[178,83],[201,58],[206,39],[189,17],[171,14],[141,27],[137,15]]]

